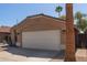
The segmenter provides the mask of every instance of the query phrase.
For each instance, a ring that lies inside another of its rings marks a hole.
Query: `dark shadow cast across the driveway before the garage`
[[[11,47],[11,46],[1,46],[6,48],[4,51],[13,55],[22,55],[25,57],[45,57],[45,58],[64,58],[64,51],[42,51],[42,50],[31,50],[31,48],[21,48],[21,47]]]

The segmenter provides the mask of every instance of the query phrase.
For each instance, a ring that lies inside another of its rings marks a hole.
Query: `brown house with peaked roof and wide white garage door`
[[[65,48],[65,20],[45,14],[26,17],[11,29],[12,44],[25,48],[58,51]]]

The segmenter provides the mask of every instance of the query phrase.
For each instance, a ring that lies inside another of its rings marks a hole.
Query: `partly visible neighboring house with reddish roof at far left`
[[[0,26],[0,43],[9,43],[10,40],[10,26]]]

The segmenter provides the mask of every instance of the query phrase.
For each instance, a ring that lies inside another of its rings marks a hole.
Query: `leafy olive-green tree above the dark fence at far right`
[[[76,12],[75,13],[75,19],[77,20],[76,22],[76,26],[78,28],[78,30],[80,31],[80,33],[85,32],[86,28],[87,28],[87,20],[86,19],[83,19],[87,17],[87,14],[83,14],[81,12]]]

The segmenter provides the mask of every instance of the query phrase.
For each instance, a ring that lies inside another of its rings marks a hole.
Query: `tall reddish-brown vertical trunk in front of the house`
[[[73,4],[66,3],[66,50],[65,61],[75,61],[75,34],[74,34],[74,18],[73,18]]]

